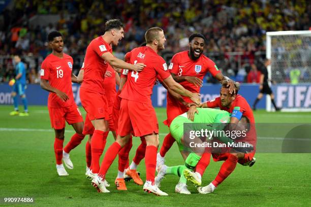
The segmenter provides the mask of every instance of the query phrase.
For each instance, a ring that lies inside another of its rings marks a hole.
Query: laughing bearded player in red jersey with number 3
[[[174,80],[185,89],[199,93],[203,83],[203,78],[210,73],[219,81],[229,80],[217,68],[216,64],[203,54],[206,39],[203,34],[194,33],[189,37],[189,50],[175,54],[169,66],[170,73]],[[230,93],[234,90],[233,81],[229,81]],[[187,97],[181,97],[175,93],[167,93],[167,120],[164,124],[170,127],[175,117],[188,111],[191,100]],[[164,164],[164,157],[167,151],[174,144],[175,139],[168,133],[163,141],[160,152],[157,155],[157,170]]]

